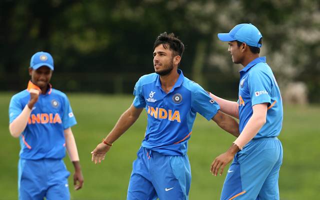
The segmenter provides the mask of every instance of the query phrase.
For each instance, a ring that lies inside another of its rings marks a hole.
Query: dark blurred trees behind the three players
[[[140,75],[153,72],[153,42],[167,31],[186,46],[180,67],[187,77],[236,98],[240,65],[216,33],[238,23],[261,31],[260,55],[280,87],[302,81],[318,101],[318,0],[1,0],[0,90],[25,88],[29,59],[42,50],[54,58],[57,89],[132,92]]]

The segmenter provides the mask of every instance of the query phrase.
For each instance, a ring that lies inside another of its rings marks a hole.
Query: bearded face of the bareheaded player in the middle
[[[153,67],[154,71],[159,75],[167,75],[173,69],[172,51],[168,45],[164,48],[163,44],[159,44],[153,51]]]

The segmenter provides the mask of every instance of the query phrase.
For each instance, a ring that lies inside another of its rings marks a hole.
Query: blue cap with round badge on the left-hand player
[[[32,55],[30,60],[30,67],[33,69],[37,69],[40,66],[47,66],[51,70],[53,70],[53,58],[50,53],[40,51]]]

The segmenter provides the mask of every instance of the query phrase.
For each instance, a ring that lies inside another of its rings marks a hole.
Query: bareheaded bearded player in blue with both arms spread
[[[160,34],[153,45],[155,73],[143,75],[133,90],[132,105],[91,152],[101,162],[122,133],[147,112],[147,127],[129,181],[127,199],[188,199],[191,174],[186,154],[196,112],[238,136],[238,123],[219,111],[218,104],[178,69],[184,50],[173,33]]]

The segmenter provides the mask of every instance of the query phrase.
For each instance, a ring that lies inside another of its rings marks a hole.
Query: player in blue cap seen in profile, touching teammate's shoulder
[[[240,129],[229,149],[211,164],[212,174],[221,175],[233,158],[220,199],[279,199],[283,152],[277,136],[282,127],[282,99],[266,58],[259,57],[262,35],[254,25],[242,23],[228,33],[218,33],[218,38],[229,42],[232,61],[244,67],[240,70],[237,102],[210,94],[221,111],[239,119]]]

